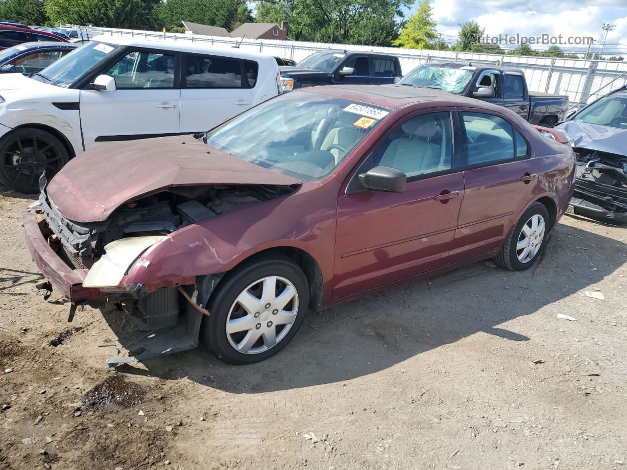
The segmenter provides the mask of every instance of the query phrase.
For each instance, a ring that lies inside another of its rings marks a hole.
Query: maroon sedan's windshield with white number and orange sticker
[[[329,175],[388,114],[344,98],[290,91],[211,130],[206,142],[312,182]]]

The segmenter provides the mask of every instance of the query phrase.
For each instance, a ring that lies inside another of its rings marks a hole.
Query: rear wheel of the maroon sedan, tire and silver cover
[[[534,220],[537,223],[535,230]],[[501,253],[493,258],[494,263],[511,271],[529,269],[540,258],[550,223],[549,212],[544,204],[531,204],[505,239]],[[527,248],[528,251],[525,251]]]

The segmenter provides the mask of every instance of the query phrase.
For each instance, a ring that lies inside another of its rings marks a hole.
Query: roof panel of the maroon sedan
[[[299,88],[297,91],[345,98],[392,110],[417,103],[431,102],[445,102],[447,106],[485,108],[500,113],[505,109],[475,98],[452,95],[446,91],[426,90],[405,85],[322,85]]]

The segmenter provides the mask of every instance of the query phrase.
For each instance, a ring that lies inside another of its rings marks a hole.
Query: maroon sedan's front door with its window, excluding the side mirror
[[[464,193],[452,137],[450,112],[414,115],[359,167],[337,201],[334,298],[446,265]],[[403,171],[406,189],[364,189],[358,175],[376,166]]]

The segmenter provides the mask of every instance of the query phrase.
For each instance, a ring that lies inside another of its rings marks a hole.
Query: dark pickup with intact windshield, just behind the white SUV
[[[403,76],[398,57],[349,51],[317,52],[278,70],[283,91],[314,85],[387,85]]]

